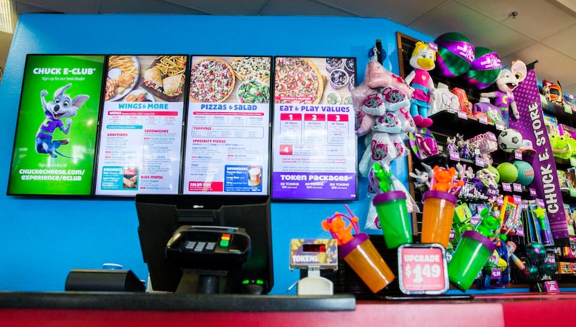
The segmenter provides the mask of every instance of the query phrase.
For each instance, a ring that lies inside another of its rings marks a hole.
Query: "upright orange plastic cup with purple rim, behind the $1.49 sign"
[[[455,195],[444,191],[427,191],[422,197],[422,243],[439,243],[448,247],[456,206]]]

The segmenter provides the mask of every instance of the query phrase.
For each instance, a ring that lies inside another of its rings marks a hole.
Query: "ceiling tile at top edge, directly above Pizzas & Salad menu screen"
[[[165,0],[180,6],[201,10],[211,15],[257,15],[268,0]]]

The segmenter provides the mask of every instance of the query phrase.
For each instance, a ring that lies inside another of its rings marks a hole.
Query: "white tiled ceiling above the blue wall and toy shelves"
[[[575,0],[15,0],[19,13],[384,17],[431,37],[459,32],[502,64],[538,60],[539,80],[576,95]],[[570,9],[572,7],[573,9]],[[518,12],[516,18],[509,12]]]

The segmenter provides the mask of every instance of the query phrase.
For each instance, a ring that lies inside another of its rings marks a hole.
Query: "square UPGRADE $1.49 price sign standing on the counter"
[[[448,265],[442,245],[405,244],[398,247],[398,283],[404,294],[448,292]]]

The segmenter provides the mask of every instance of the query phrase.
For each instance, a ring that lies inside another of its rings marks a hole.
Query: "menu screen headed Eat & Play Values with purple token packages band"
[[[272,197],[355,200],[355,58],[275,63]]]

